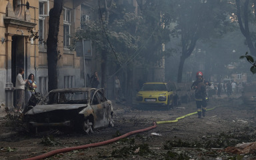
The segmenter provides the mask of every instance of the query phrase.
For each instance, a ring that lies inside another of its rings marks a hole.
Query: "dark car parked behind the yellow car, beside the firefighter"
[[[177,83],[177,95],[181,103],[189,103],[195,99],[195,91],[191,89],[192,83]]]

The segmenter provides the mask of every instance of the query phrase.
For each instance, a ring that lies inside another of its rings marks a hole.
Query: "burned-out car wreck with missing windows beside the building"
[[[35,107],[29,106],[24,121],[29,132],[57,128],[93,133],[96,128],[113,127],[113,106],[103,89],[54,89]]]

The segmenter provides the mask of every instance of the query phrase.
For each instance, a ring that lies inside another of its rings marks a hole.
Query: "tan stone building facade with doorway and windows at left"
[[[0,103],[13,109],[15,81],[20,68],[24,79],[35,75],[37,92],[47,93],[47,33],[49,10],[53,0],[0,0]],[[64,0],[60,17],[57,62],[58,88],[81,87],[80,57],[69,50],[71,38],[79,29],[81,1]],[[39,38],[35,38],[38,35]],[[35,38],[35,39],[34,39]]]

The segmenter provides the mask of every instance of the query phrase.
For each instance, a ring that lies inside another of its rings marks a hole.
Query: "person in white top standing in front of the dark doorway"
[[[25,91],[25,84],[27,83],[27,79],[23,79],[22,75],[24,74],[24,69],[19,69],[19,74],[16,77],[16,109],[15,112],[21,113],[21,109],[23,108],[24,103],[24,91]]]

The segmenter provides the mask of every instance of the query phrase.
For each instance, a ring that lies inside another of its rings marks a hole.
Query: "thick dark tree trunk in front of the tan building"
[[[57,89],[57,61],[58,61],[58,35],[59,19],[63,9],[63,0],[54,0],[53,8],[49,11],[49,33],[47,38],[47,61],[48,61],[48,91]]]

